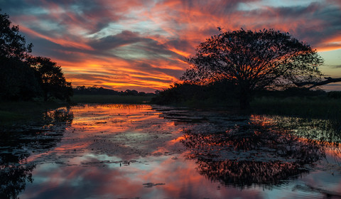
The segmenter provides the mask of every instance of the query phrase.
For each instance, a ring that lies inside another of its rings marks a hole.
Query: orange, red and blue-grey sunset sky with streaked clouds
[[[288,32],[318,50],[325,75],[341,77],[341,0],[0,0],[0,9],[72,86],[165,89],[217,27]]]

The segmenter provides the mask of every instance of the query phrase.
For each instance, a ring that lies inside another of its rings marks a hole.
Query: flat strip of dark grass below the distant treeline
[[[153,96],[134,95],[74,95],[73,103],[99,103],[99,104],[146,104]]]

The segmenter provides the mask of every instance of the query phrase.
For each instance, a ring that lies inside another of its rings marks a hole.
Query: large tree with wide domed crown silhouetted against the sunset
[[[226,31],[207,38],[188,58],[182,79],[206,84],[228,80],[239,95],[242,109],[249,107],[255,90],[316,82],[323,59],[310,45],[280,31]]]

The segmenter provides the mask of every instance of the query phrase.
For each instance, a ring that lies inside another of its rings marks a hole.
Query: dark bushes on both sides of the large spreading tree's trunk
[[[200,104],[200,102],[215,105],[234,106],[238,101],[237,87],[232,82],[221,80],[207,85],[197,85],[184,82],[175,83],[170,88],[158,92],[152,99],[154,104]],[[325,92],[323,90],[310,90],[305,87],[288,87],[285,90],[257,90],[253,97],[325,97],[341,98],[341,92]],[[204,103],[205,104],[205,103]]]

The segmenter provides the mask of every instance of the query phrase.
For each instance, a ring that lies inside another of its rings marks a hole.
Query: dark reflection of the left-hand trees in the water
[[[57,109],[45,112],[39,123],[1,134],[0,198],[17,198],[25,189],[26,181],[33,181],[31,172],[36,165],[26,159],[33,152],[56,146],[72,119],[69,109]]]

